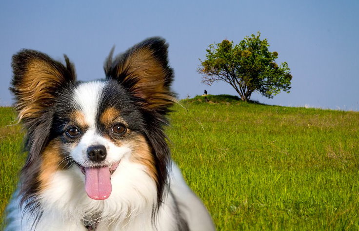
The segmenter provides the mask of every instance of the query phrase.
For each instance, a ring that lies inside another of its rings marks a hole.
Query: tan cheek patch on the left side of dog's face
[[[41,154],[40,166],[40,191],[46,189],[50,183],[51,176],[63,166],[60,166],[61,157],[60,141],[52,140]]]

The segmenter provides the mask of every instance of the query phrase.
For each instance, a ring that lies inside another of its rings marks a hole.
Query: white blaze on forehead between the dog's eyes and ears
[[[95,128],[96,114],[99,107],[101,92],[105,82],[92,81],[81,83],[75,90],[75,101],[90,128]]]

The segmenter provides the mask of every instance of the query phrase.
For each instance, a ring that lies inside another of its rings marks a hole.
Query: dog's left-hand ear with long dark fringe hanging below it
[[[39,157],[52,125],[53,114],[49,107],[61,89],[76,80],[75,68],[66,56],[65,62],[66,67],[34,50],[21,50],[12,58],[14,75],[10,90],[15,96],[18,118],[27,129],[25,150],[28,156],[21,170],[20,204],[34,213],[35,220],[42,214],[36,195],[39,191]]]

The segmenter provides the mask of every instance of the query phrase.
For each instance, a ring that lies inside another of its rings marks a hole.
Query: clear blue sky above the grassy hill
[[[209,44],[238,43],[261,32],[293,75],[290,94],[251,99],[283,106],[359,111],[359,1],[19,1],[0,3],[0,105],[11,105],[11,56],[22,48],[75,63],[78,79],[104,77],[102,64],[152,36],[170,44],[173,89],[180,98],[236,95],[225,83],[207,86],[196,72]]]

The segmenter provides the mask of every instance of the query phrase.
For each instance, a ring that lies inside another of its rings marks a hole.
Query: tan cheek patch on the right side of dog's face
[[[135,150],[132,153],[130,160],[144,165],[148,170],[147,173],[149,176],[158,182],[155,160],[151,154],[151,148],[149,147],[146,139],[142,135],[139,135],[134,139],[134,141],[132,141],[132,144]]]

